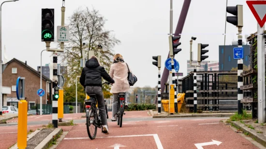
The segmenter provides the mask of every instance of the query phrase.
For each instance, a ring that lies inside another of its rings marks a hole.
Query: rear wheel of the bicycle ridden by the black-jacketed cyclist
[[[93,116],[91,117],[92,114]],[[91,108],[89,108],[89,116],[86,117],[86,122],[87,122],[86,125],[90,139],[95,139],[97,134],[97,127],[93,124],[96,120],[95,118],[96,118],[96,113],[94,113],[94,111]]]

